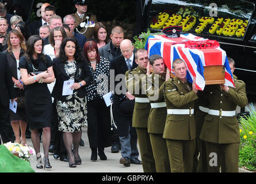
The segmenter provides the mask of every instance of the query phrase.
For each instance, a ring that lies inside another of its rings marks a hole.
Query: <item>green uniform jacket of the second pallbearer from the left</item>
[[[142,79],[143,90],[146,91],[150,103],[163,102],[165,104],[165,98],[163,97],[164,85],[165,79],[161,75],[154,73],[151,75],[145,75],[145,77]],[[163,134],[166,115],[166,106],[162,108],[151,108],[150,116],[148,117],[148,133]]]

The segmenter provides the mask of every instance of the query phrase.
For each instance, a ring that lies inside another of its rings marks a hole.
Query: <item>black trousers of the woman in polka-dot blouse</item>
[[[106,107],[104,99],[87,102],[87,125],[90,148],[110,147],[110,107]]]

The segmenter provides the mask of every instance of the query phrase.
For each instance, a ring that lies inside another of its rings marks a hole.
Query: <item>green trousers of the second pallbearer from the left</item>
[[[155,159],[155,168],[157,173],[170,173],[170,162],[166,139],[161,133],[150,133],[150,141]]]

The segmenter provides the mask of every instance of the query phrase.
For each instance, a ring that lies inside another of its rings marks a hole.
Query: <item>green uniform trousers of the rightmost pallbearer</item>
[[[220,168],[221,173],[238,173],[239,143],[218,144],[205,141],[205,147],[209,173],[219,173]],[[213,160],[211,153],[216,153],[216,160]]]

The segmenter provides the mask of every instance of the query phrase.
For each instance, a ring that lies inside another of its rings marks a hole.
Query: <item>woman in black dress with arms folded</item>
[[[47,83],[54,82],[51,58],[44,55],[43,39],[30,36],[27,51],[20,58],[21,78],[25,85],[25,108],[31,129],[31,139],[36,151],[37,168],[43,168],[40,155],[39,129],[43,128],[44,168],[51,169],[48,152],[51,140],[52,99]]]

